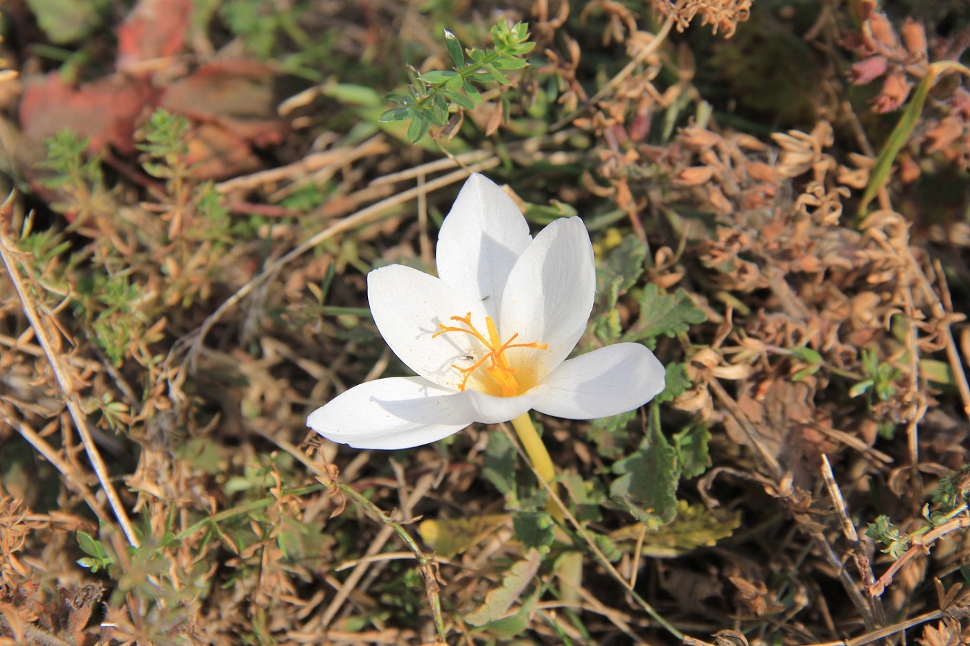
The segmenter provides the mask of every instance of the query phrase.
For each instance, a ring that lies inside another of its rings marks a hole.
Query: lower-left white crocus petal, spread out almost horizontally
[[[403,449],[434,442],[471,419],[452,405],[457,394],[421,377],[391,377],[354,386],[307,417],[321,436],[354,448]]]

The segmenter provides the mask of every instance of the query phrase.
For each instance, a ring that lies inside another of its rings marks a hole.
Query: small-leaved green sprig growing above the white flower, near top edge
[[[386,99],[403,106],[380,115],[380,121],[406,121],[407,138],[413,144],[420,142],[432,125],[444,126],[448,123],[451,105],[465,110],[474,110],[483,103],[482,95],[472,82],[484,85],[498,83],[511,85],[501,70],[520,70],[529,62],[526,54],[533,50],[529,42],[529,25],[517,22],[514,25],[501,20],[490,30],[495,47],[488,49],[463,48],[458,38],[448,30],[444,32],[444,43],[455,67],[451,70],[431,70],[419,73],[408,67],[410,83],[407,93],[391,92]],[[468,54],[469,61],[465,55]],[[464,90],[464,94],[462,93]]]

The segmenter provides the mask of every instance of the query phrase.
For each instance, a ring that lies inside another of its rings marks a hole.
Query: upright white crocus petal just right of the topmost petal
[[[501,301],[499,334],[504,341],[547,343],[547,350],[513,349],[514,365],[553,371],[583,336],[597,289],[593,244],[578,217],[561,218],[543,229],[508,276]],[[516,359],[516,357],[519,357]]]

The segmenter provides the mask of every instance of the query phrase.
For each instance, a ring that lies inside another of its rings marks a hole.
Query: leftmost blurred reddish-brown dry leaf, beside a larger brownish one
[[[157,99],[145,81],[119,75],[73,87],[52,72],[25,85],[20,101],[24,136],[40,143],[67,128],[79,138],[89,138],[87,148],[92,152],[111,145],[120,154],[134,153],[135,126]]]

